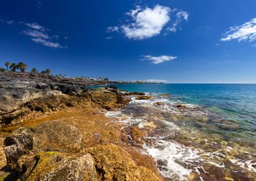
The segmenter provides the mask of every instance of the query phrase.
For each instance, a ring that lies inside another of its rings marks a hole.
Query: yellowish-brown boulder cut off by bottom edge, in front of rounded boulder
[[[96,181],[96,176],[94,160],[90,154],[40,152],[32,164],[26,164],[26,172],[20,180]]]

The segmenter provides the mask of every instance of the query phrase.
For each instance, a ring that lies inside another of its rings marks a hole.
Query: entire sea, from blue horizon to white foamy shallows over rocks
[[[153,97],[106,116],[152,128],[143,148],[166,180],[255,180],[256,84],[115,86]]]

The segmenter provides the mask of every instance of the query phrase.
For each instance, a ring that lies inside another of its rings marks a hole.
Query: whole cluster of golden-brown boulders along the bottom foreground
[[[140,143],[139,134],[137,129],[131,128],[131,136],[137,143]],[[4,141],[7,166],[12,170],[7,178],[161,180],[156,172],[139,166],[133,156],[119,145],[101,143],[86,147],[84,139],[86,137],[73,125],[63,121],[44,122],[14,131]]]

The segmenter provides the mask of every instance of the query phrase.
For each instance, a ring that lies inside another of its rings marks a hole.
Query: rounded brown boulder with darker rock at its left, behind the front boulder
[[[76,153],[83,147],[82,140],[79,131],[63,121],[49,121],[36,127],[21,127],[5,138],[7,164],[15,168],[20,158],[34,156],[39,152]]]

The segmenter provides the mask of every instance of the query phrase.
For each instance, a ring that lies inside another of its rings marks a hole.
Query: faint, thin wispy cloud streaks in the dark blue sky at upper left
[[[13,20],[9,21],[1,21],[3,23],[7,23],[8,25],[22,25],[26,27],[22,31],[22,35],[29,36],[32,42],[36,42],[37,44],[42,44],[43,46],[51,47],[51,48],[67,48],[66,46],[62,46],[57,40],[59,40],[60,35],[51,35],[51,30],[39,25],[38,23],[26,23],[23,21],[16,22]],[[67,36],[64,36],[63,39],[67,39]]]

